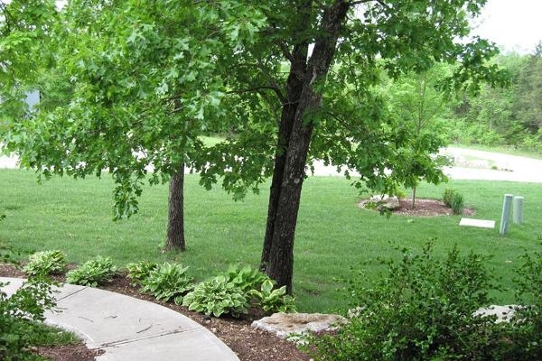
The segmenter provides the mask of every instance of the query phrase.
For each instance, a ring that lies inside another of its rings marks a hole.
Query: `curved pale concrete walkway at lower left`
[[[0,277],[10,282],[2,288],[8,296],[24,281]],[[103,349],[98,361],[238,361],[208,329],[153,302],[71,284],[59,291],[60,312],[48,311],[46,322],[79,334],[89,348]]]

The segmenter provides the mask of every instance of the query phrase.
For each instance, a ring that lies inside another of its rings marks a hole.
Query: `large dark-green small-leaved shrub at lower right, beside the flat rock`
[[[487,257],[461,256],[455,246],[443,260],[431,244],[421,255],[401,252],[398,263],[381,261],[388,273],[378,282],[368,283],[363,271],[346,281],[356,312],[336,335],[310,337],[306,351],[333,361],[500,359],[500,324],[474,316],[496,289]]]

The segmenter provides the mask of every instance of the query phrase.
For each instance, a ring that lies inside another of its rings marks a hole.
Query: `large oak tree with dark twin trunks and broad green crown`
[[[240,196],[272,174],[261,266],[292,292],[307,165],[322,159],[358,171],[357,185],[395,191],[387,170],[407,140],[374,91],[379,75],[445,61],[458,64],[446,91],[499,80],[485,64],[496,48],[466,38],[484,4],[74,0],[53,40],[70,101],[14,126],[9,144],[46,174],[108,169],[117,216],[136,209],[151,164],[151,180],[173,177],[173,190],[191,163],[203,185],[221,177]],[[201,130],[220,121],[237,136],[204,147]]]

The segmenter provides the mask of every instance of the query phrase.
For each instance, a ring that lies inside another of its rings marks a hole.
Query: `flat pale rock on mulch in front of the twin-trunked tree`
[[[339,329],[338,324],[344,321],[345,319],[339,315],[322,313],[274,313],[252,322],[252,327],[271,332],[279,338],[288,338],[291,335],[309,331]]]

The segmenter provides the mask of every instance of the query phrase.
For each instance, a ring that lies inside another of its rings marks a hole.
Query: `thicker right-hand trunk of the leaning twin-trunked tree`
[[[335,53],[339,31],[350,4],[337,1],[322,16],[322,35],[316,40],[313,55],[308,62],[303,89],[295,109],[294,125],[285,153],[285,168],[280,184],[273,237],[268,255],[266,273],[279,286],[292,292],[294,274],[294,235],[301,200],[304,170],[313,134],[313,124],[305,116],[320,106],[322,97],[314,92],[317,81],[327,75]]]

